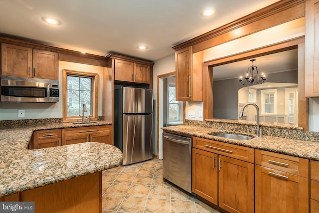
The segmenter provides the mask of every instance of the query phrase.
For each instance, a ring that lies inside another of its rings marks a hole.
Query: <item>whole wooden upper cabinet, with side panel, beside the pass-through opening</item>
[[[175,86],[177,101],[203,100],[203,53],[192,54],[192,47],[175,52]]]

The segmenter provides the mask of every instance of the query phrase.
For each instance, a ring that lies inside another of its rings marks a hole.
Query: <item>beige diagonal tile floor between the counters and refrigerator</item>
[[[102,213],[219,213],[162,179],[162,160],[103,172]]]

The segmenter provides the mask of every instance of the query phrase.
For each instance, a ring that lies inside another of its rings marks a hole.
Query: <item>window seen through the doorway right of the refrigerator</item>
[[[182,103],[176,101],[175,85],[168,85],[168,123],[182,120]]]

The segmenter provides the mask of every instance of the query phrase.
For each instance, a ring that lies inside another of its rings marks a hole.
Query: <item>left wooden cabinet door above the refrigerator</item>
[[[114,80],[130,82],[134,81],[133,70],[133,62],[115,59]]]

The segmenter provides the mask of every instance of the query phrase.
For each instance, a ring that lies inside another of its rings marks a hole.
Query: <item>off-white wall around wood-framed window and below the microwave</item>
[[[98,116],[102,116],[103,67],[87,64],[59,61],[59,102],[57,103],[2,103],[0,102],[0,120],[62,118],[62,69],[70,69],[99,74]],[[25,117],[17,117],[18,110],[25,110]]]

